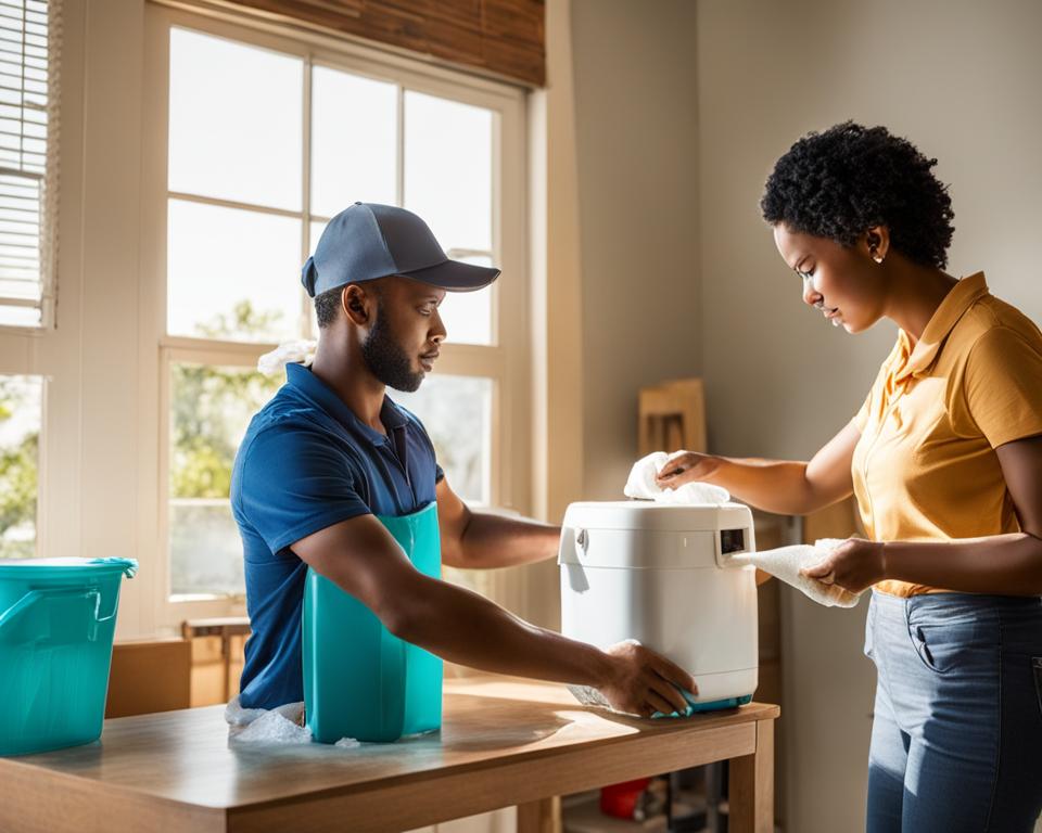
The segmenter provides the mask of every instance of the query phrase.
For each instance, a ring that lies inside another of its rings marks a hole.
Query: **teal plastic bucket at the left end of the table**
[[[0,755],[101,736],[112,637],[132,559],[0,562]]]

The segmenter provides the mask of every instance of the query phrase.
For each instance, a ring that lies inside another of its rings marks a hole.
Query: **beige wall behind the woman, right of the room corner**
[[[771,166],[809,129],[884,124],[937,156],[955,209],[950,271],[987,270],[996,295],[1042,321],[1042,4],[699,0],[697,23],[701,338],[715,450],[812,453],[856,410],[894,336],[880,324],[851,337],[805,308],[760,220]],[[865,607],[788,598],[788,830],[863,824],[875,682],[860,657]]]

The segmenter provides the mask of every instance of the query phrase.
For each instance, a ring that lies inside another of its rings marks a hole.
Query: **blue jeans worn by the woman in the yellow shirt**
[[[868,833],[1031,833],[1042,812],[1042,599],[873,592]]]

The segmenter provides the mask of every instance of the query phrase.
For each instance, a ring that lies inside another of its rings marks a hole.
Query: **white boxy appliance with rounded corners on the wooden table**
[[[755,568],[723,559],[755,550],[748,507],[572,503],[562,526],[564,636],[601,649],[636,639],[658,651],[695,678],[692,712],[752,699]]]

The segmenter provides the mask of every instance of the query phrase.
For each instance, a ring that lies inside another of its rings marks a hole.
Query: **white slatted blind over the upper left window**
[[[54,318],[61,0],[0,0],[0,325]]]

